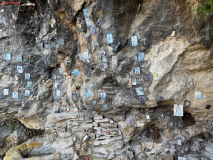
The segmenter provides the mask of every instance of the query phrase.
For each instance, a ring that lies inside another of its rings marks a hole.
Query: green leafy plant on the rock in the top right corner
[[[201,15],[207,15],[213,12],[213,0],[206,0],[197,7],[197,12]]]

